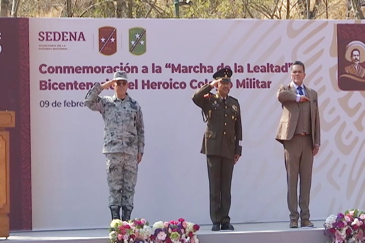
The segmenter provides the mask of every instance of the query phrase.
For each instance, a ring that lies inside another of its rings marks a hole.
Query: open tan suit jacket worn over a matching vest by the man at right
[[[320,125],[319,112],[317,102],[317,92],[304,86],[306,96],[310,99],[311,113],[311,135],[313,145],[320,145]],[[299,105],[297,100],[297,91],[293,84],[280,85],[277,92],[277,98],[282,104],[282,114],[279,127],[276,133],[276,140],[283,143],[285,140],[290,140],[294,136],[299,117]]]

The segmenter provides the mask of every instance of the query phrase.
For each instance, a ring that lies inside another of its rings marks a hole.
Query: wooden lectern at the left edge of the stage
[[[15,127],[15,112],[0,111],[0,237],[9,237],[10,173],[9,132]]]

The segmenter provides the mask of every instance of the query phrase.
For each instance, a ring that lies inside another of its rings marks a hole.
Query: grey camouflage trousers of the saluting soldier
[[[137,156],[126,153],[107,153],[105,156],[109,207],[118,205],[132,211],[138,171]]]

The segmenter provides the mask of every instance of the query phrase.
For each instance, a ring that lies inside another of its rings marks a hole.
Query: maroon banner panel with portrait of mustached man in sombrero
[[[338,86],[365,90],[365,24],[338,24]]]

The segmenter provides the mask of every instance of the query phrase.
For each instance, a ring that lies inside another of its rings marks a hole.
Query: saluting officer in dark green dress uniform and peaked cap
[[[242,125],[238,100],[228,95],[231,76],[230,68],[220,69],[213,74],[210,84],[193,95],[207,123],[201,153],[207,156],[212,231],[234,230],[228,213],[233,166],[242,150]],[[213,88],[217,89],[215,95],[210,93]]]

